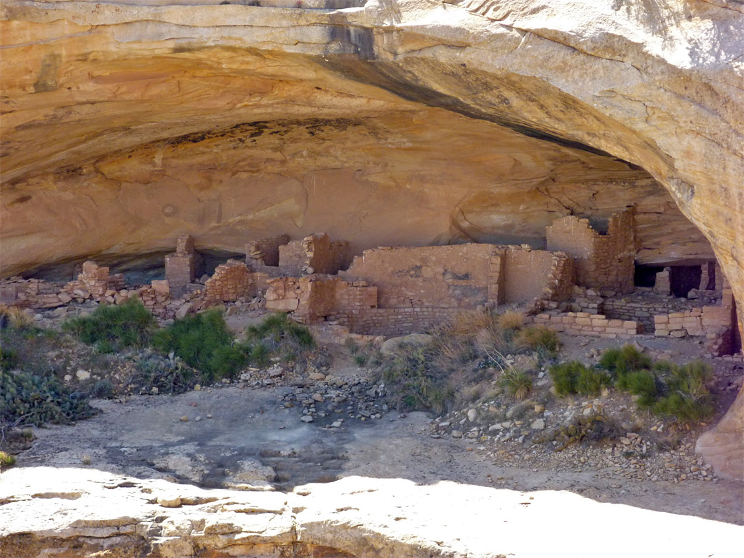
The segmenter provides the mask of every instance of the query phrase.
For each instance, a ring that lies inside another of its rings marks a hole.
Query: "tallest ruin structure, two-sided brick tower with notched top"
[[[607,234],[594,231],[589,219],[557,219],[546,230],[548,250],[565,251],[574,258],[580,286],[633,292],[635,225],[629,209],[609,219]]]

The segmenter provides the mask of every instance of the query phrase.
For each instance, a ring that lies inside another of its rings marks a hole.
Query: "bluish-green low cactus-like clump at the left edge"
[[[63,388],[51,372],[0,371],[0,423],[69,424],[94,413],[83,394]]]

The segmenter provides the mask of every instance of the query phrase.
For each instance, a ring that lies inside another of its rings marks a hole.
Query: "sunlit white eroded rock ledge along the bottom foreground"
[[[606,525],[644,541],[646,556],[729,557],[741,531],[565,492],[400,478],[350,477],[285,494],[31,467],[3,473],[0,504],[2,557],[575,558],[594,556],[600,547],[603,556],[625,556],[623,545],[606,544]],[[577,518],[580,541],[566,537]]]

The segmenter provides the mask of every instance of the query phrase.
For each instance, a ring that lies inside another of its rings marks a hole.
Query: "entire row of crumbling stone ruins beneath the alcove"
[[[192,237],[182,235],[165,257],[165,279],[150,285],[127,289],[124,275],[86,262],[61,289],[42,280],[5,280],[0,297],[36,308],[135,298],[161,320],[231,304],[291,312],[296,321],[336,324],[362,336],[420,333],[461,310],[511,304],[526,308],[527,321],[564,333],[693,336],[716,354],[740,350],[731,287],[716,263],[696,269],[696,288],[686,298],[670,296],[684,274],[675,266],[656,272],[652,286],[635,285],[632,208],[607,219],[604,231],[589,219],[562,217],[546,237],[546,250],[485,243],[379,247],[349,261],[348,243],[327,234],[292,241],[282,234],[247,243],[245,260],[228,260],[197,280],[204,259]]]

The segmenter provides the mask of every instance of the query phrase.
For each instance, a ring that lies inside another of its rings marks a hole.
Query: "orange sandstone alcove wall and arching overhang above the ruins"
[[[3,2],[2,275],[179,234],[542,246],[635,205],[637,261],[714,253],[741,318],[738,4],[155,4]]]

